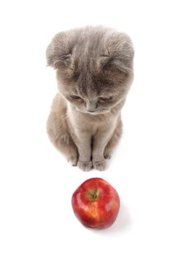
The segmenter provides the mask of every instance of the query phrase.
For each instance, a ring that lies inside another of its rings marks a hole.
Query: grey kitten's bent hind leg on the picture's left
[[[70,165],[77,165],[77,146],[69,134],[65,116],[61,113],[51,112],[47,120],[47,134],[55,148],[66,156]]]

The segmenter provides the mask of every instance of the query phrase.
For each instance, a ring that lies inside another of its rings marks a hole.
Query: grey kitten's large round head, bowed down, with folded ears
[[[126,34],[85,27],[56,34],[47,64],[57,69],[58,90],[77,110],[108,113],[125,99],[133,80],[134,50]]]

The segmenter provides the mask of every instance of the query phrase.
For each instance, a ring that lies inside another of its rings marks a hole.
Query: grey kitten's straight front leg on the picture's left
[[[79,160],[77,166],[81,170],[90,170],[92,167],[91,162],[91,136],[86,131],[80,131],[75,139],[79,152]]]

